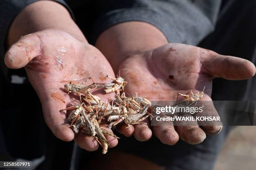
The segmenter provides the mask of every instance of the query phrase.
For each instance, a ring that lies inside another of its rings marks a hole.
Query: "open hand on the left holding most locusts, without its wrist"
[[[5,55],[5,64],[11,69],[25,67],[28,79],[41,101],[45,122],[56,137],[65,141],[74,138],[80,147],[89,151],[97,150],[99,145],[94,138],[82,134],[74,137],[72,129],[64,124],[66,115],[59,112],[72,102],[72,98],[63,90],[64,84],[89,76],[97,83],[105,83],[111,80],[104,79],[102,73],[114,76],[110,64],[97,48],[61,30],[42,30],[23,36],[10,46]],[[97,95],[103,101],[110,97],[109,94]],[[108,131],[112,132],[110,129]],[[117,145],[117,139],[109,135],[106,137],[110,147]]]

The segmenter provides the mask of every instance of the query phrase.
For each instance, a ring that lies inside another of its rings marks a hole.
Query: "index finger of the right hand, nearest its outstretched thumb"
[[[215,109],[212,100],[208,95],[204,95],[205,101],[197,101],[197,107],[202,107],[203,112],[197,112],[196,117],[206,117],[206,118],[215,118],[215,120],[200,120],[197,121],[197,124],[205,131],[206,134],[218,134],[223,126],[220,119],[220,116]]]

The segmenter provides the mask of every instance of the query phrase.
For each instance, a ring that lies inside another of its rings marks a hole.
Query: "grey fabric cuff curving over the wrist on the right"
[[[169,18],[167,21],[166,17],[161,15],[161,13],[148,8],[124,8],[110,11],[105,15],[102,15],[95,22],[91,37],[92,44],[96,43],[100,33],[102,33],[104,30],[118,23],[128,21],[142,21],[150,23],[161,30],[162,33],[164,33],[168,42],[171,41],[169,38],[172,38],[172,42],[181,42],[181,39],[179,38],[179,35],[176,33],[176,31],[168,25],[168,23],[172,22],[171,18]]]

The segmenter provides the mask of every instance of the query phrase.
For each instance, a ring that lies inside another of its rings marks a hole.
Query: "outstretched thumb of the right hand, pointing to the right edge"
[[[205,49],[202,49],[201,54],[203,68],[214,77],[243,80],[255,75],[256,68],[254,64],[243,58],[223,56]]]

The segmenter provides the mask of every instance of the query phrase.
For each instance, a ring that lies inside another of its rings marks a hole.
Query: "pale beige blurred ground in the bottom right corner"
[[[256,127],[234,128],[223,145],[214,170],[256,169]]]

